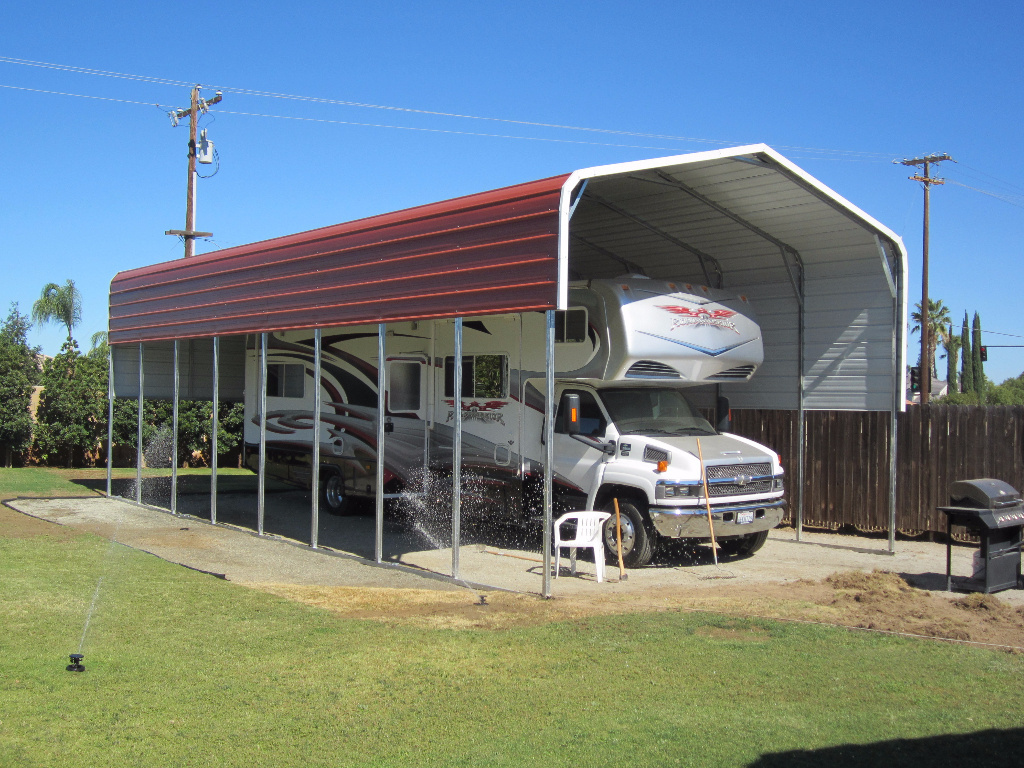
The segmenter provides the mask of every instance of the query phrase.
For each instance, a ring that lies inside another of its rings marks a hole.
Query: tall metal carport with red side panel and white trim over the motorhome
[[[753,382],[721,385],[735,408],[903,408],[902,242],[764,144],[589,168],[121,272],[111,285],[112,403],[140,390],[152,396],[150,381],[176,391],[182,340],[290,329],[376,323],[383,344],[396,321],[546,310],[551,362],[554,310],[566,308],[568,283],[624,272],[751,300],[765,362]],[[238,364],[225,354],[218,365]],[[216,377],[190,377],[194,391],[200,378],[209,395]],[[801,435],[801,452],[803,443]],[[798,532],[802,454],[799,464]]]

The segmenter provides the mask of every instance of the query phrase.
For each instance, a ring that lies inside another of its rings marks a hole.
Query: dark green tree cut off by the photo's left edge
[[[11,466],[14,454],[32,444],[32,389],[39,378],[39,350],[29,346],[31,327],[17,303],[11,303],[0,327],[0,451],[5,467]]]

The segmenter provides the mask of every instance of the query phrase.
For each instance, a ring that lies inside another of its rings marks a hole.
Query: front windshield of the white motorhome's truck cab
[[[600,395],[624,434],[717,434],[678,389],[602,389]]]

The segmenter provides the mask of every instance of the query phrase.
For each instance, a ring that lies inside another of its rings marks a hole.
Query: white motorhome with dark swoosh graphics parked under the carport
[[[543,312],[465,321],[457,394],[453,322],[388,325],[385,493],[426,494],[443,484],[433,480],[451,477],[458,402],[463,477],[472,484],[463,514],[536,523],[544,332]],[[267,472],[306,486],[313,338],[311,331],[270,335],[265,379]],[[377,345],[376,326],[323,332],[321,490],[331,510],[374,495]],[[617,499],[624,558],[633,566],[649,562],[665,539],[709,539],[709,517],[727,551],[750,554],[764,543],[783,512],[778,456],[720,434],[686,397],[698,385],[749,380],[761,365],[761,332],[745,298],[637,275],[573,284],[569,308],[556,313],[555,345],[559,509],[610,508]],[[256,345],[248,360],[246,443],[255,469]],[[566,403],[578,409],[574,425],[567,424]],[[613,524],[605,535],[614,552]]]

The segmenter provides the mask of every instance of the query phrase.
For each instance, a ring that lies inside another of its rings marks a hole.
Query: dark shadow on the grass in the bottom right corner
[[[1024,728],[954,733],[927,738],[897,738],[869,744],[841,744],[762,755],[749,768],[1002,768],[1020,765]],[[1016,756],[1016,757],[1015,757]]]

